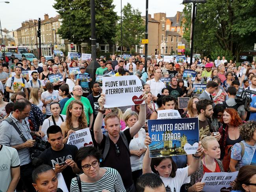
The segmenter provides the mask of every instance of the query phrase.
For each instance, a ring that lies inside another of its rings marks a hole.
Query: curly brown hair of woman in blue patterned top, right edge
[[[253,137],[253,133],[256,130],[256,122],[255,121],[247,121],[239,127],[239,131],[241,136],[245,141],[250,141]]]

